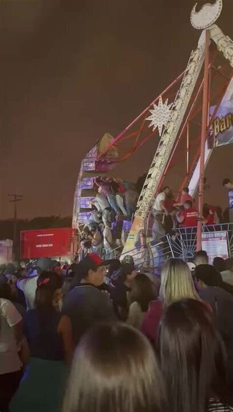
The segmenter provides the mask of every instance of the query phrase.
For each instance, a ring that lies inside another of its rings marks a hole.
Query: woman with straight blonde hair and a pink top
[[[156,341],[158,326],[164,308],[173,302],[185,298],[202,302],[195,289],[188,265],[183,260],[170,259],[162,267],[159,299],[152,302],[149,306],[141,327],[144,335],[152,343]]]

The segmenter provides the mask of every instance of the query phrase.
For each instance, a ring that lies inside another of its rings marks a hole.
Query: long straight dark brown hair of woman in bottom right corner
[[[201,302],[186,299],[165,309],[159,348],[170,412],[233,411],[225,404],[225,347]]]

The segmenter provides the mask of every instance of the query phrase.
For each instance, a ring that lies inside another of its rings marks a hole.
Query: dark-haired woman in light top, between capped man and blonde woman
[[[132,283],[127,323],[140,328],[149,303],[156,299],[156,289],[148,276],[138,274]]]

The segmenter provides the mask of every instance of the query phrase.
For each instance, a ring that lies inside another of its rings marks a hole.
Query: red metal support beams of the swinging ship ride
[[[208,34],[206,34],[206,36]],[[206,41],[207,41],[207,37],[206,37]],[[207,51],[207,48],[208,48],[208,51]],[[210,59],[209,59],[209,53],[211,53]],[[228,75],[229,69],[227,69],[227,74],[223,71],[225,68],[225,65],[228,65],[229,67],[228,62],[225,62],[221,66],[221,69],[216,69],[216,67],[214,66],[214,60],[215,60],[216,55],[217,55],[216,48],[212,48],[212,49],[209,48],[209,38],[208,38],[206,50],[205,50],[204,77],[199,80],[200,83],[197,84],[196,89],[195,89],[196,91],[193,93],[191,97],[190,106],[189,106],[190,108],[189,108],[188,114],[186,115],[181,131],[178,137],[176,138],[175,145],[172,150],[172,155],[170,157],[169,163],[166,165],[165,173],[163,174],[163,177],[158,185],[158,190],[159,190],[162,187],[162,184],[164,182],[164,179],[167,173],[174,167],[177,161],[180,160],[180,157],[182,158],[184,157],[185,158],[185,172],[184,172],[185,175],[184,175],[184,178],[182,179],[182,182],[179,188],[179,194],[180,194],[182,187],[188,185],[187,183],[190,179],[190,175],[193,173],[194,167],[198,161],[198,158],[200,157],[200,153],[202,153],[202,159],[201,159],[202,175],[201,175],[201,182],[200,182],[200,187],[199,187],[199,198],[200,198],[199,210],[202,210],[201,204],[203,204],[203,190],[202,189],[203,189],[203,178],[204,178],[204,169],[203,169],[204,144],[205,144],[205,140],[207,137],[207,132],[209,131],[209,128],[211,127],[213,119],[216,115],[216,112],[219,108],[219,105],[221,104],[222,98],[231,80],[231,76]],[[208,64],[206,63],[206,59],[207,59]],[[213,70],[213,73],[212,73],[212,70]],[[185,73],[185,70],[177,78],[175,78],[175,80],[159,96],[163,96],[164,100],[171,96],[175,96],[176,92],[174,93],[173,88],[175,86],[177,88],[177,83],[182,79],[184,73]],[[211,74],[213,74],[213,77],[221,76],[221,78],[222,77],[224,78],[224,84],[222,84],[221,82],[221,85],[218,85],[214,89],[214,93],[212,91],[212,96],[210,93]],[[205,84],[206,81],[208,82],[207,86]],[[199,101],[199,98],[201,97],[201,92],[203,89],[204,89],[204,99],[203,99],[204,101],[201,103]],[[137,116],[121,133],[119,133],[119,135],[112,141],[112,143],[109,144],[99,154],[98,161],[101,159],[101,162],[106,161],[106,162],[116,163],[116,162],[126,160],[136,150],[138,150],[150,137],[154,136],[157,133],[157,130],[152,132],[151,129],[149,129],[148,123],[146,122],[146,117],[152,105],[158,102],[159,96],[156,97],[156,99],[154,99],[153,102],[150,103],[146,107],[146,109],[143,110],[143,112],[139,116]],[[200,121],[201,110],[205,110],[205,112],[208,113],[210,102],[213,99],[214,99],[213,104],[216,105],[215,110],[210,120],[208,119],[208,115],[205,114],[206,124],[204,125],[203,121],[205,122],[205,117],[203,118],[202,123]],[[216,100],[217,100],[217,104],[216,104]],[[196,117],[196,116],[199,116],[199,117]],[[194,138],[194,133],[191,133],[191,132],[194,132],[194,130],[191,130],[192,125],[202,128],[202,133],[198,137]],[[134,128],[136,130],[134,130]],[[128,148],[127,152],[124,153],[117,161],[116,159],[111,159],[110,157],[108,158],[106,156],[108,150],[111,147],[116,146],[119,143],[125,142],[126,140],[129,140],[129,139],[133,139],[132,143],[130,143],[131,144],[130,149]],[[200,140],[201,140],[201,148],[200,148]],[[177,154],[177,148],[179,144],[183,141],[185,141],[185,149],[182,148],[182,150],[179,150],[179,153],[177,156],[175,155]],[[191,152],[191,149],[193,149],[197,145],[198,147],[195,153]],[[177,160],[177,158],[179,159]],[[199,239],[199,243],[200,243],[200,239]],[[200,244],[198,244],[198,247],[200,247]]]

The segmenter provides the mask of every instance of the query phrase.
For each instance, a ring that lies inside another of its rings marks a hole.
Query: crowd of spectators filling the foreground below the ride
[[[233,259],[39,259],[0,275],[1,412],[233,411]]]

